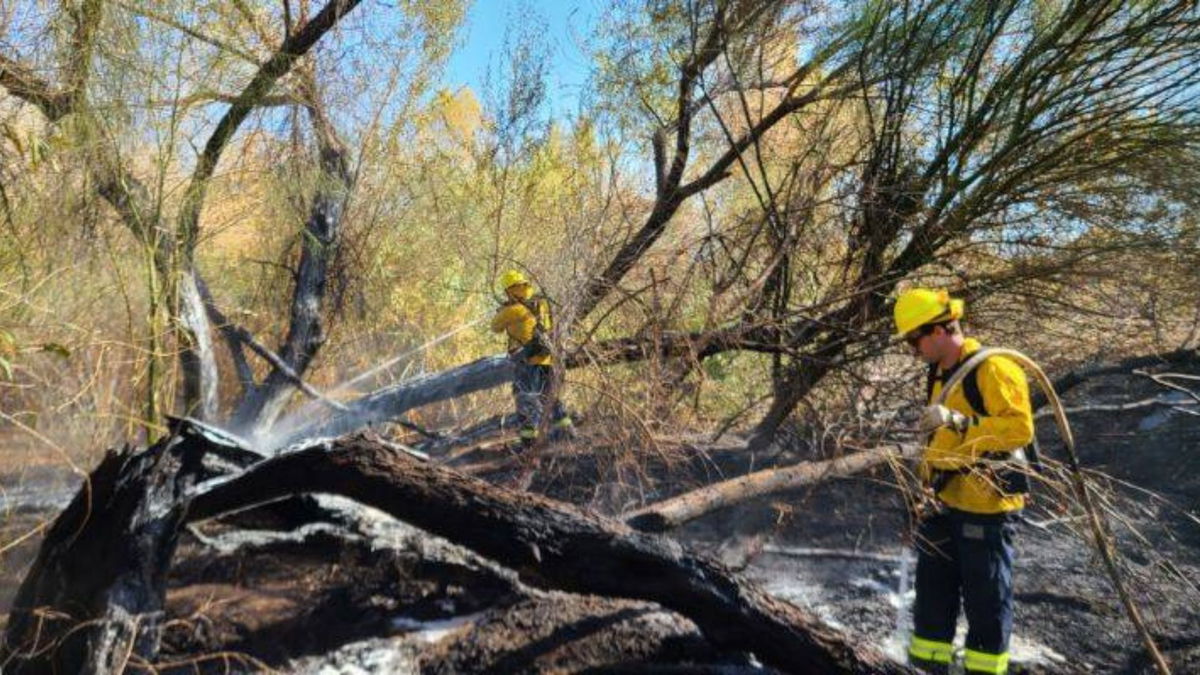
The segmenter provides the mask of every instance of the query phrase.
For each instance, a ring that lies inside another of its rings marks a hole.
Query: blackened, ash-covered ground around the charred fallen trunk
[[[1144,381],[1108,378],[1073,392],[1068,405],[1156,393]],[[1158,495],[1110,484],[1108,503],[1123,519],[1114,519],[1117,548],[1174,670],[1200,673],[1200,419],[1148,407],[1078,412],[1072,423],[1090,468]],[[1052,430],[1044,426],[1039,437]],[[1045,454],[1061,459],[1052,446]],[[455,461],[494,480],[620,513],[689,485],[798,459],[677,453],[634,477],[605,453],[586,440],[564,444],[547,449],[530,471],[493,443]],[[55,489],[61,484],[53,477]],[[50,485],[26,476],[19,492],[26,497],[7,492],[0,609],[36,554],[36,533],[18,538],[61,506]],[[1043,489],[1027,512],[1039,526],[1024,525],[1018,536],[1014,670],[1150,673],[1086,533],[1075,531],[1075,513],[1056,501]],[[312,522],[317,513],[296,502],[185,534],[169,581],[158,671],[764,671],[751,655],[718,652],[690,621],[656,605],[532,591],[403,525],[388,525],[380,536],[341,521]],[[912,596],[901,592],[912,575],[905,531],[892,477],[878,471],[713,513],[672,536],[900,658]]]

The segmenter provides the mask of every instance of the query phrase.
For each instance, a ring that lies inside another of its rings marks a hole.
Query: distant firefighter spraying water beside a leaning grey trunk
[[[510,269],[500,275],[505,303],[492,318],[492,330],[509,336],[509,357],[516,364],[512,398],[521,420],[521,447],[538,440],[545,412],[551,412],[554,435],[570,436],[574,425],[554,392],[550,350],[550,303],[534,294],[524,274]]]

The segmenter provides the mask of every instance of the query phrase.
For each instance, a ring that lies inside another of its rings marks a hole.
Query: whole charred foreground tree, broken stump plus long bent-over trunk
[[[308,447],[192,488],[203,455],[220,448],[184,426],[150,449],[110,453],[52,527],[14,603],[6,673],[120,673],[152,661],[179,528],[305,492],[385,510],[534,586],[656,602],[691,619],[718,647],[752,651],[786,671],[907,671],[670,539],[370,438]]]

